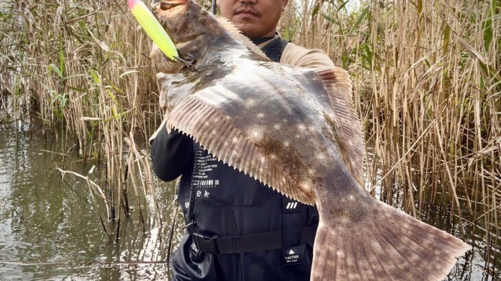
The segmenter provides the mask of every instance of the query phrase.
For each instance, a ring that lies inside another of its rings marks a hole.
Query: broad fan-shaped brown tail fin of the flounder
[[[311,280],[443,280],[471,249],[460,239],[375,201],[372,223],[322,222]]]

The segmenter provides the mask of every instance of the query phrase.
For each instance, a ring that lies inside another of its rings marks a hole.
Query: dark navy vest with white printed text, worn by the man
[[[279,62],[288,41],[263,47]],[[289,199],[223,164],[193,142],[178,186],[187,234],[172,258],[173,280],[310,280],[315,207]]]

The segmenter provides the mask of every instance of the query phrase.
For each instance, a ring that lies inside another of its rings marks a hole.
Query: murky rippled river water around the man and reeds
[[[0,280],[169,279],[163,261],[173,184],[156,182],[163,224],[151,219],[143,234],[139,212],[132,210],[115,243],[102,229],[97,213],[103,210],[95,209],[86,182],[71,175],[62,181],[56,168],[88,175],[97,183],[102,182],[104,169],[97,160],[83,164],[75,151],[65,152],[59,143],[60,139],[27,125],[0,123]],[[174,242],[182,236],[178,218]],[[434,210],[427,222],[459,235],[444,223],[446,218]],[[500,269],[492,263],[499,265],[500,255],[492,255],[486,264],[483,237],[476,232],[463,237],[475,249],[459,258],[450,280],[501,280]],[[485,273],[486,265],[495,272]]]

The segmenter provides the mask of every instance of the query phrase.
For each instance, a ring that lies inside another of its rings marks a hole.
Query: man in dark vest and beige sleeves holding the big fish
[[[319,50],[282,40],[288,0],[219,0],[222,16],[276,62],[334,66]],[[318,212],[222,164],[191,138],[159,130],[152,162],[161,180],[180,178],[187,234],[172,258],[173,280],[309,280]]]

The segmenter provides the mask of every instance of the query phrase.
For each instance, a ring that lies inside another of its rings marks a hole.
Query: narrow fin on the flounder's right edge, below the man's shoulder
[[[362,123],[351,100],[351,80],[349,73],[339,67],[316,69],[316,74],[322,80],[331,101],[334,112],[333,128],[336,143],[351,169],[353,176],[363,182],[363,162],[365,156]]]

